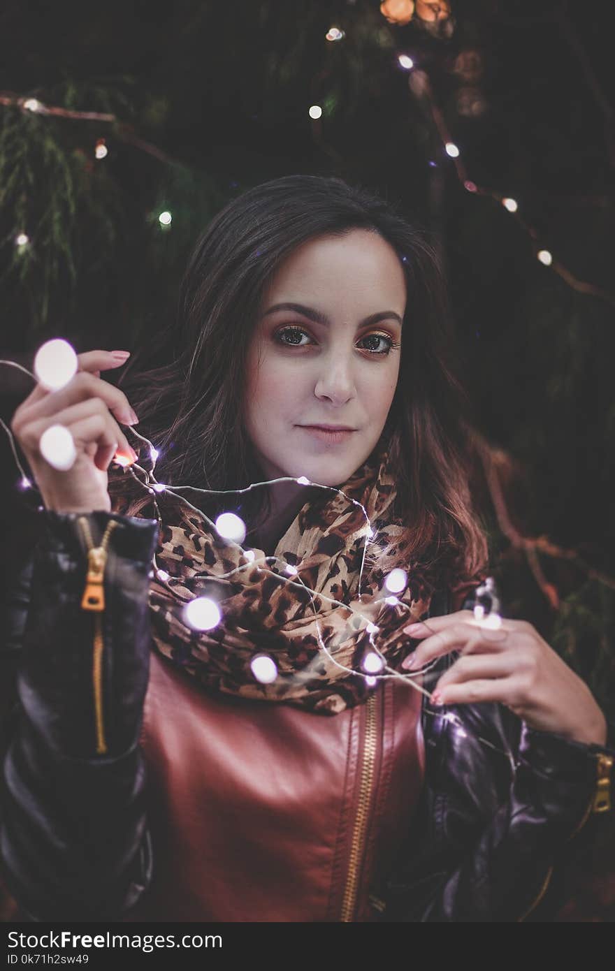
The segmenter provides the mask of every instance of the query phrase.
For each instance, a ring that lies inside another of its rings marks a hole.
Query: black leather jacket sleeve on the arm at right
[[[451,710],[463,718],[462,707]],[[591,846],[605,828],[613,831],[612,722],[606,746],[585,745],[530,728],[503,706],[472,706],[481,710],[485,720],[468,722],[467,733],[441,716],[439,757],[404,850],[407,865],[380,893],[385,921],[525,921],[539,906],[551,920],[544,898],[570,841]],[[478,734],[508,751],[506,772],[496,753],[480,768],[471,754]]]

